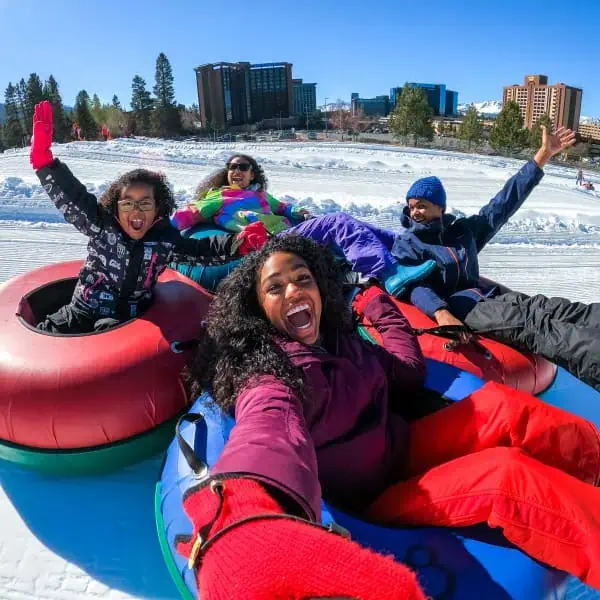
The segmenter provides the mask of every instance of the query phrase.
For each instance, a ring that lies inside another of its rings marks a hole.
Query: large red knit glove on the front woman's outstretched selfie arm
[[[425,600],[416,575],[391,557],[304,522],[265,518],[284,512],[252,479],[214,481],[190,494],[184,508],[194,536],[177,550],[187,558],[191,555],[198,568],[199,597],[226,600],[243,592],[248,600]],[[202,532],[205,541],[253,515],[263,518],[232,527],[198,551],[199,543],[194,542],[203,527],[210,528]]]

